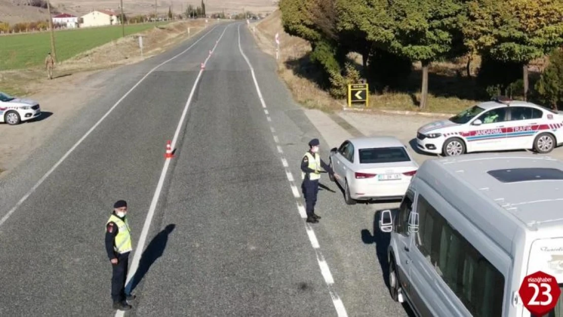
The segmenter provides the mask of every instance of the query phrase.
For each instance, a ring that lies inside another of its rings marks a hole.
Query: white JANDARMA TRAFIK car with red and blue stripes
[[[481,102],[417,131],[420,150],[445,156],[519,149],[549,153],[561,143],[563,111],[503,97]]]

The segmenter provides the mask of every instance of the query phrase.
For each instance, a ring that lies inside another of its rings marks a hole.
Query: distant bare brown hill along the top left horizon
[[[29,4],[44,3],[42,0],[0,0],[0,21],[10,24],[48,19],[47,9],[29,6]],[[178,0],[157,0],[159,14],[167,14],[168,8],[177,15],[186,10],[187,2]],[[190,1],[195,6],[200,1]],[[205,0],[205,12],[225,11],[225,14],[238,14],[243,11],[253,13],[267,13],[274,11],[278,5],[277,0]],[[51,0],[51,10],[74,15],[84,15],[92,10],[110,9],[119,10],[117,0]],[[123,0],[123,9],[126,15],[150,14],[154,12],[154,0]]]

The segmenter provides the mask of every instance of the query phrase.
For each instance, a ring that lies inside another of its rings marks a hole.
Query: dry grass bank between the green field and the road
[[[211,25],[216,23],[215,21],[210,22]],[[181,21],[139,33],[145,36],[143,56],[141,56],[135,35],[119,38],[57,64],[53,76],[55,78],[66,77],[147,59],[187,39],[188,26],[190,27],[190,37],[193,37],[205,28],[205,21]],[[32,95],[44,89],[51,89],[56,84],[56,80],[48,81],[46,79],[46,72],[42,67],[0,72],[0,90],[16,96]]]

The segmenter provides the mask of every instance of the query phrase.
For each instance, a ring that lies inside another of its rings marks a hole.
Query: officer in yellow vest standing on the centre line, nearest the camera
[[[113,309],[129,310],[131,305],[127,301],[135,299],[135,295],[126,294],[125,282],[127,279],[127,267],[129,264],[129,253],[133,247],[131,233],[127,223],[127,202],[118,200],[115,202],[114,211],[106,222],[105,247],[113,267],[111,276],[111,300]]]

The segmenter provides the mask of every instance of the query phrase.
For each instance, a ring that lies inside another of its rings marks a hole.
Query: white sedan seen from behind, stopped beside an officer
[[[359,137],[330,150],[329,164],[344,189],[347,204],[356,200],[401,199],[418,164],[395,137]],[[331,181],[335,181],[330,177]]]

